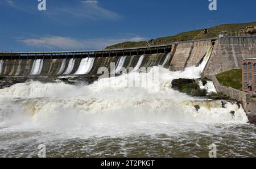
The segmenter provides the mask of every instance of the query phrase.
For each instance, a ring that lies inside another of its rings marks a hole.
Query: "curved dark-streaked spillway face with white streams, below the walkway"
[[[107,67],[109,73],[110,64],[114,63],[115,73],[118,71],[129,72],[129,67],[139,69],[164,64],[167,61],[167,53],[143,54],[117,57],[87,57],[67,59],[36,59],[36,60],[0,60],[0,76],[60,76],[60,75],[84,75],[94,77],[100,67]],[[126,70],[121,69],[125,67]]]

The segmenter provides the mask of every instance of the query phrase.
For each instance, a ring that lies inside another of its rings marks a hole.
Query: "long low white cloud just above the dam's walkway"
[[[71,37],[46,36],[38,39],[22,39],[20,42],[38,48],[80,50],[80,49],[104,49],[109,45],[121,43],[123,41],[142,41],[143,37],[135,36],[120,39],[82,39],[77,40]]]

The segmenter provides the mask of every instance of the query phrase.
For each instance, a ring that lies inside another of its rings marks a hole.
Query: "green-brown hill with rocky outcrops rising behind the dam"
[[[239,23],[239,24],[221,24],[219,26],[198,29],[196,31],[183,32],[179,33],[175,36],[167,36],[167,37],[159,37],[158,39],[151,39],[148,41],[126,41],[123,43],[111,45],[106,47],[106,49],[116,49],[116,48],[133,48],[133,47],[145,47],[147,45],[160,45],[172,43],[175,41],[186,41],[193,39],[202,39],[209,37],[217,37],[220,33],[229,33],[229,35],[236,36],[240,34],[246,33],[249,35],[256,34],[256,22],[250,23]]]

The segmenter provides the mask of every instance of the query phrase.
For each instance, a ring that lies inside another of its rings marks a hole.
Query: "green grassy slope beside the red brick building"
[[[228,86],[242,90],[242,69],[233,69],[217,74],[216,78],[222,86]]]

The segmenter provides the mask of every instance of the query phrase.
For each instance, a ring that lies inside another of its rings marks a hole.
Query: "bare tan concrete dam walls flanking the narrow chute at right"
[[[203,40],[176,44],[176,50],[169,69],[183,70],[185,67],[197,66],[207,50],[214,45],[203,75],[215,75],[231,69],[240,69],[241,61],[256,58],[256,37],[221,37],[217,40]],[[174,46],[174,45],[173,45]],[[172,47],[172,50],[174,47]]]

